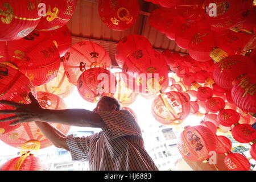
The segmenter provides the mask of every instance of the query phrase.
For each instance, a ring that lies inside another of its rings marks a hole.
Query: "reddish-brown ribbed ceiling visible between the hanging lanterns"
[[[164,34],[152,28],[148,18],[152,10],[158,9],[158,5],[138,0],[140,11],[137,22],[133,27],[124,31],[114,31],[106,27],[98,14],[98,0],[77,0],[75,13],[67,26],[72,34],[72,44],[82,40],[90,40],[109,52],[112,65],[117,66],[114,53],[117,43],[126,35],[139,34],[146,37],[153,48],[162,52],[165,49],[179,53],[188,53],[187,49],[179,48],[174,40],[168,39]]]

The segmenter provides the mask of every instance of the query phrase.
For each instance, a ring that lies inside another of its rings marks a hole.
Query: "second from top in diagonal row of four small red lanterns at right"
[[[210,112],[217,113],[217,111],[224,109],[225,101],[220,97],[212,97],[207,100],[206,107]]]

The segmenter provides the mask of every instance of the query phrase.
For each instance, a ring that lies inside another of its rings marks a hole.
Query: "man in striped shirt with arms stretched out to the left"
[[[102,97],[93,111],[85,109],[49,110],[40,107],[30,93],[31,104],[0,101],[16,107],[16,110],[0,110],[0,114],[15,114],[0,119],[10,125],[35,121],[36,125],[51,142],[71,152],[73,160],[89,160],[90,170],[158,170],[144,149],[141,130],[133,115],[120,110],[117,100]],[[65,136],[49,123],[98,127],[102,131],[88,137]]]

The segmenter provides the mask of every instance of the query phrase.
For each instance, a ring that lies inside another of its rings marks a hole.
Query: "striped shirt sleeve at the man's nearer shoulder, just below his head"
[[[110,138],[114,139],[125,136],[142,138],[141,129],[129,111],[121,109],[117,111],[101,111],[98,114],[100,114],[100,117],[108,126],[112,134]]]

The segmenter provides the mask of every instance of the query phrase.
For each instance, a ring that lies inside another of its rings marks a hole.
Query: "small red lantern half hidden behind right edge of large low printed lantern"
[[[229,138],[224,136],[217,136],[217,154],[225,154],[229,152],[232,148],[232,142]]]

